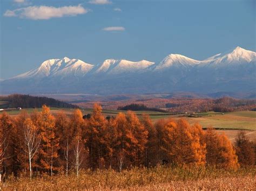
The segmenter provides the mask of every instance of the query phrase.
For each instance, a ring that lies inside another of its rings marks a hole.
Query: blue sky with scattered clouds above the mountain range
[[[45,60],[196,60],[256,50],[253,0],[1,0],[0,79]]]

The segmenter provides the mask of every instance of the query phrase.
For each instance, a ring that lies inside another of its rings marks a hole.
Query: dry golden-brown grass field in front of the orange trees
[[[82,171],[75,174],[42,176],[41,178],[10,177],[3,190],[253,190],[256,186],[254,168],[237,171],[215,168],[178,168],[158,166],[133,168],[121,173],[111,169]]]

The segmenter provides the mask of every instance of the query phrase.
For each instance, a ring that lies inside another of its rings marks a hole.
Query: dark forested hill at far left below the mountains
[[[48,97],[38,97],[30,95],[12,94],[8,96],[1,96],[0,108],[41,108],[42,105],[56,108],[78,108],[76,105],[62,102]]]

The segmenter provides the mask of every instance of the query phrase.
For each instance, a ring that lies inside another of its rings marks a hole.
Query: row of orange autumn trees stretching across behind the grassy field
[[[203,131],[185,119],[160,119],[128,111],[106,119],[95,104],[90,118],[79,109],[71,116],[50,108],[17,117],[0,117],[0,167],[4,174],[75,172],[156,165],[239,168],[255,165],[255,144],[241,132],[233,146],[214,129]],[[0,170],[0,171],[1,171]]]

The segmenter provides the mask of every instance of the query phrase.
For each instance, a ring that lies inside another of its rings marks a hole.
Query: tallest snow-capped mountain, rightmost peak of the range
[[[180,81],[185,90],[255,91],[256,53],[241,47],[214,55],[198,63]]]

